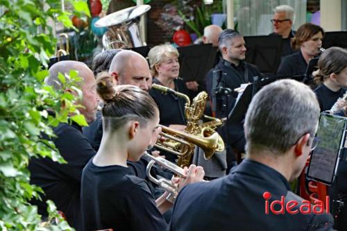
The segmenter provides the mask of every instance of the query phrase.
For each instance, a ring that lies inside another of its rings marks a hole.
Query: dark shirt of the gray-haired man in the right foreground
[[[290,191],[278,171],[244,160],[228,176],[184,187],[174,205],[170,230],[331,230],[330,214],[266,214],[266,191],[271,193],[269,203],[285,196],[285,201],[298,202],[296,209],[302,204],[303,198]]]

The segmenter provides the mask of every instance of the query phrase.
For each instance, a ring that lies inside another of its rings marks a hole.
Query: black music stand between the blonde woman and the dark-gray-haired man
[[[177,48],[180,53],[180,77],[187,81],[203,81],[208,71],[213,68],[217,49],[211,44],[194,44],[190,46],[180,46]]]

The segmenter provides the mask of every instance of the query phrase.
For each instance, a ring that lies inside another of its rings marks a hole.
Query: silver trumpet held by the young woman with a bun
[[[169,169],[170,171],[174,172],[176,176],[180,176],[180,178],[186,178],[185,173],[183,169],[181,169],[176,164],[173,164],[169,162],[169,160],[165,160],[162,157],[153,157],[153,155],[150,155],[149,153],[144,153],[146,157],[149,157],[151,161],[149,164],[147,164],[146,167],[146,175],[151,180],[151,182],[154,182],[156,185],[164,189],[165,191],[169,192],[169,196],[167,196],[167,200],[169,200],[171,203],[174,203],[176,196],[178,194],[178,187],[176,185],[173,185],[171,180],[167,180],[166,178],[160,178],[157,179],[151,175],[151,168],[153,164],[157,163],[160,166],[164,167],[165,169]]]

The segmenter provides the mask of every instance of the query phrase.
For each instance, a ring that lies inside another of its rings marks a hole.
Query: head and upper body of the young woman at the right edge
[[[341,98],[347,87],[347,51],[340,47],[330,47],[319,58],[319,69],[314,71],[314,80],[319,85],[314,92],[319,101],[321,111],[330,110]],[[337,103],[339,109],[346,101]]]

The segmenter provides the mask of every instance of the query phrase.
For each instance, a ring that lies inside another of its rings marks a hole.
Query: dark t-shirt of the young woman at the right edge
[[[330,110],[332,105],[344,95],[346,89],[341,88],[338,92],[333,92],[331,89],[326,87],[325,85],[319,85],[316,89],[314,89],[314,93],[316,93],[319,107],[321,108],[321,112],[325,110]]]

